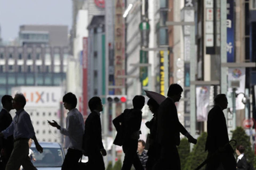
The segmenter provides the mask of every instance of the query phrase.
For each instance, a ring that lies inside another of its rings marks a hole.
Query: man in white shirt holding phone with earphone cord
[[[82,114],[75,108],[77,106],[77,98],[73,93],[67,93],[63,96],[65,109],[68,109],[66,118],[66,128],[62,128],[57,122],[48,123],[66,135],[65,148],[68,148],[62,170],[77,169],[78,161],[82,157],[82,140],[84,132],[84,122]]]

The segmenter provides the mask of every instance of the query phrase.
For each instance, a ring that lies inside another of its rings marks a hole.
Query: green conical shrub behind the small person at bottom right
[[[233,131],[232,139],[235,139],[237,141],[237,145],[233,146],[234,151],[238,145],[243,145],[245,147],[246,158],[248,159],[249,162],[254,162],[255,156],[251,149],[250,137],[246,135],[245,130],[242,127],[237,127],[237,129]],[[231,145],[232,144],[233,143],[231,143]]]

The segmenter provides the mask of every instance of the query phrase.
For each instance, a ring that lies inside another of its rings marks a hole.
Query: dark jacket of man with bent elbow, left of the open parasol
[[[136,139],[141,128],[142,112],[139,109],[125,109],[122,114],[113,120],[117,136],[114,144],[122,146],[126,139]]]

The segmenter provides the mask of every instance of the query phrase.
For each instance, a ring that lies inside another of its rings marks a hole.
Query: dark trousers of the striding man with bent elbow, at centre
[[[123,143],[123,152],[125,153],[125,159],[123,160],[122,170],[130,170],[133,164],[136,170],[144,170],[139,156],[137,154],[138,140],[129,139]]]

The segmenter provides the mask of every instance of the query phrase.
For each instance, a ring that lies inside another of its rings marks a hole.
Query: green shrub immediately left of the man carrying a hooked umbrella
[[[203,132],[200,137],[197,138],[197,144],[194,145],[192,152],[187,157],[184,170],[192,170],[198,167],[207,157],[208,152],[205,151],[207,133]],[[205,169],[205,166],[201,170]]]

